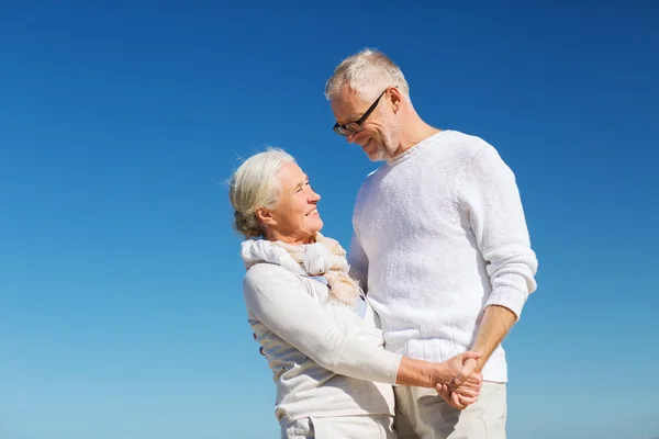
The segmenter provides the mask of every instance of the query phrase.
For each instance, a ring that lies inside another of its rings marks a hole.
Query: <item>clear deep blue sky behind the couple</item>
[[[0,5],[1,438],[277,437],[224,181],[286,148],[347,246],[376,165],[323,88],[367,46],[517,176],[510,437],[659,436],[657,7],[120,3]]]

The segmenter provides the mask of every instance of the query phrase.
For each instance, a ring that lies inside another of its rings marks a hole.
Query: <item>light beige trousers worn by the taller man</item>
[[[484,382],[479,399],[463,410],[433,389],[393,387],[399,439],[505,439],[505,384]]]

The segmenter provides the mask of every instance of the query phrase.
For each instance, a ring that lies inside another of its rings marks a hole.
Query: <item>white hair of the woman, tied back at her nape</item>
[[[281,166],[295,159],[279,148],[267,148],[249,157],[233,173],[228,198],[234,207],[234,228],[246,238],[266,236],[266,228],[256,216],[259,207],[272,209],[279,195],[277,175]]]

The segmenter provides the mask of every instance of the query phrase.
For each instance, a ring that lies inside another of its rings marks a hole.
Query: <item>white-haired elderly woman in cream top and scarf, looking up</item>
[[[437,389],[477,358],[432,363],[383,349],[344,249],[321,234],[321,196],[287,153],[247,159],[230,198],[247,238],[248,320],[275,375],[282,438],[396,438],[392,385]],[[473,402],[479,390],[476,380],[460,398]]]

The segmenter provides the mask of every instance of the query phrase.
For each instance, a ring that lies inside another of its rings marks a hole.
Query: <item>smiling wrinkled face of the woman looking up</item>
[[[280,185],[277,205],[261,221],[277,239],[305,243],[323,228],[316,209],[321,195],[311,189],[309,178],[294,162],[282,165],[277,177]]]

